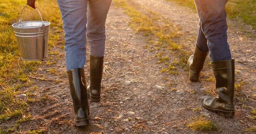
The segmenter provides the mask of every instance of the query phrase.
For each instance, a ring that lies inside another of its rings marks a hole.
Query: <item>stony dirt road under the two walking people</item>
[[[198,32],[195,11],[165,0],[127,1],[129,6],[149,18],[152,15],[158,16],[154,22],[158,27],[164,28],[166,23],[172,24],[167,28],[177,28],[180,35],[174,36],[173,42],[182,45],[189,55],[193,53]],[[49,64],[42,64],[32,74],[35,84],[29,89],[22,89],[23,92],[34,93],[32,99],[36,101],[27,102],[30,108],[26,112],[31,113],[32,120],[19,123],[19,129],[15,132],[18,133],[21,129],[23,132],[41,130],[46,134],[253,133],[245,131],[256,124],[253,120],[255,115],[251,113],[256,107],[256,48],[253,47],[256,44],[256,34],[250,26],[228,20],[228,42],[236,61],[236,115],[225,118],[202,107],[204,98],[216,94],[209,56],[200,81],[190,82],[188,69],[177,62],[179,52],[168,47],[154,47],[160,39],[136,31],[132,17],[124,11],[127,9],[113,3],[108,14],[102,101],[89,102],[91,125],[85,128],[73,126],[73,106],[65,71],[64,50],[60,48],[60,44],[51,50],[60,53],[50,55],[51,58],[47,59]],[[163,62],[156,56],[159,53],[162,53],[162,58],[167,57]],[[87,57],[89,59],[89,53]],[[56,63],[51,64],[53,61]],[[85,67],[87,84],[90,83],[88,61]],[[170,65],[175,67],[173,72],[163,71],[163,68]],[[35,85],[38,89],[31,91]],[[198,120],[212,121],[217,129],[192,130],[189,125]],[[15,120],[4,122],[3,129],[13,123]]]

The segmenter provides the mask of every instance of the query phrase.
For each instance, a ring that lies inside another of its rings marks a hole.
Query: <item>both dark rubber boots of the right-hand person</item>
[[[204,61],[208,52],[202,52],[195,47],[194,55],[189,57],[189,80],[196,82],[203,69]],[[203,106],[207,110],[224,114],[225,117],[233,117],[234,109],[234,83],[235,83],[235,64],[234,59],[226,61],[212,62],[212,69],[216,79],[216,90],[218,96],[207,97],[203,101]]]

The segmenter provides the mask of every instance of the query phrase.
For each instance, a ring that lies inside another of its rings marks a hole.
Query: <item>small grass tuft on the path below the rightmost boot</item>
[[[195,119],[192,123],[187,125],[189,128],[197,131],[216,131],[218,127],[212,123],[212,121],[207,120],[203,117]]]

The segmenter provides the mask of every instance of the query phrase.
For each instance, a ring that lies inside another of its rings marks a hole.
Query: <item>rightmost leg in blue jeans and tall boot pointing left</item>
[[[218,96],[207,97],[204,108],[233,117],[234,109],[234,60],[227,43],[225,5],[228,0],[194,0],[204,35],[207,38],[212,69]]]

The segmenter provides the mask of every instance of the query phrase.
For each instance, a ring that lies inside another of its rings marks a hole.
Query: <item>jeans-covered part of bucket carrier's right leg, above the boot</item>
[[[87,14],[87,40],[90,55],[102,57],[105,54],[105,23],[112,0],[89,0]]]

